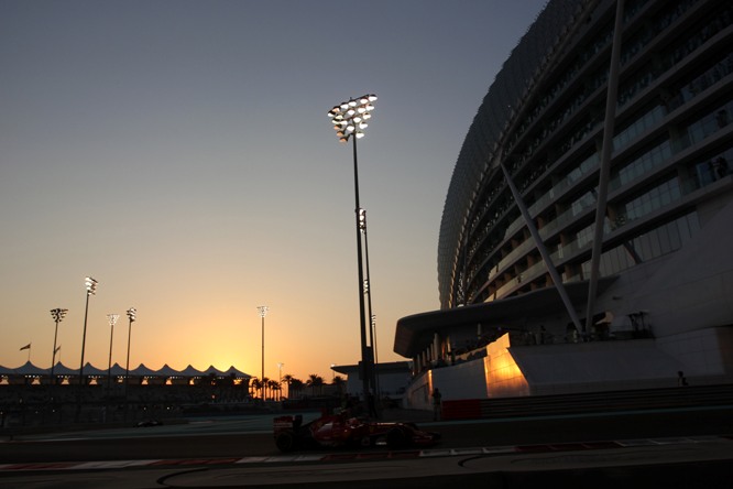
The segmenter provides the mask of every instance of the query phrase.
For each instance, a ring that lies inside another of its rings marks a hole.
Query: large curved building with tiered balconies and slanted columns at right
[[[723,0],[550,0],[458,155],[440,311],[401,319],[395,351],[419,371],[508,333],[533,391],[557,382],[523,347],[625,339],[659,361],[609,382],[730,380],[732,45]]]

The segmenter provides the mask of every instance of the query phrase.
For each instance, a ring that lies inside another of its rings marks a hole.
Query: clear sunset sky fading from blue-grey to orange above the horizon
[[[380,361],[439,308],[463,138],[544,0],[0,1],[0,366],[230,366],[330,380],[360,359],[359,140]],[[29,350],[21,347],[31,344]],[[58,359],[58,356],[57,356]]]

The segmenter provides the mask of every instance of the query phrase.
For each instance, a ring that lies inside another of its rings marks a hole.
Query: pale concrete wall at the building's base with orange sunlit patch
[[[663,339],[508,346],[491,344],[486,356],[431,369],[416,378],[405,408],[431,410],[430,392],[444,401],[614,390],[670,388],[682,371],[690,384],[733,382],[733,328],[693,330]]]

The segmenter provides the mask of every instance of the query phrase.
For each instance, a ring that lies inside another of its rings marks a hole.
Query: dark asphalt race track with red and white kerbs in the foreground
[[[259,420],[0,442],[0,487],[732,487],[733,406],[419,423],[427,450],[280,454]],[[411,421],[411,420],[406,420]],[[259,424],[258,424],[259,423]],[[550,483],[553,482],[553,483]],[[605,485],[608,483],[608,486]]]

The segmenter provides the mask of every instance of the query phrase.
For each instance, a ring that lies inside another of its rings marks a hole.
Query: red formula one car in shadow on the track
[[[440,439],[438,433],[424,432],[412,423],[371,422],[346,414],[329,414],[305,424],[299,414],[278,416],[273,427],[281,452],[375,445],[396,449],[429,446]]]

